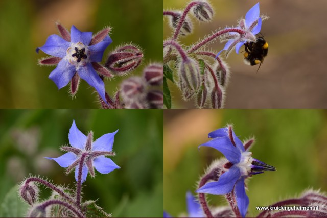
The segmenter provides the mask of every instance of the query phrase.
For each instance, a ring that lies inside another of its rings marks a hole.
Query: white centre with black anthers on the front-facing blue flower
[[[89,62],[90,50],[82,42],[72,43],[67,49],[67,59],[69,63],[78,66],[85,66]]]

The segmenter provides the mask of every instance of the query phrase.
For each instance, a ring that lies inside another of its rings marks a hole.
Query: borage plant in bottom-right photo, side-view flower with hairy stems
[[[196,190],[198,201],[191,200],[188,194],[188,211],[194,215],[190,217],[245,217],[250,202],[245,191],[248,178],[276,169],[253,158],[249,149],[254,138],[242,142],[230,125],[209,133],[208,137],[212,140],[199,148],[214,148],[225,158],[214,161],[201,177]],[[224,195],[229,206],[209,206],[205,193]],[[307,190],[300,197],[276,202],[262,210],[257,217],[327,217],[327,196],[320,191]],[[170,215],[164,212],[164,217]]]

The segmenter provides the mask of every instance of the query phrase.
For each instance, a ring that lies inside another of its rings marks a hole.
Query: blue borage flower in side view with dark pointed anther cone
[[[242,141],[235,135],[231,126],[221,128],[209,133],[213,138],[201,146],[217,149],[225,155],[228,163],[225,164],[223,173],[217,182],[209,182],[199,188],[198,193],[210,193],[214,195],[226,195],[233,191],[242,217],[245,217],[249,198],[245,193],[245,179],[264,171],[275,171],[275,167],[267,165],[260,160],[252,158],[252,153],[245,148]]]

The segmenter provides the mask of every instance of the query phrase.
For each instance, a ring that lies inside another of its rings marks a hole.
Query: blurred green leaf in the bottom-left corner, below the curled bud
[[[23,202],[17,193],[18,185],[14,186],[0,205],[0,217],[25,217],[30,207]]]

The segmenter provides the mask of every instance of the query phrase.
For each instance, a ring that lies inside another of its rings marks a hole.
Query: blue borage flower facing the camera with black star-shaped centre
[[[55,82],[59,89],[66,86],[74,77],[72,94],[75,94],[80,77],[94,87],[107,103],[104,82],[96,70],[105,76],[112,77],[108,70],[98,64],[102,60],[104,50],[112,42],[108,35],[110,29],[106,28],[92,37],[92,32],[81,32],[74,25],[70,34],[59,23],[57,26],[62,38],[53,34],[46,39],[43,46],[36,49],[36,52],[42,50],[44,53],[57,58],[42,59],[39,63],[58,64],[49,78]]]

